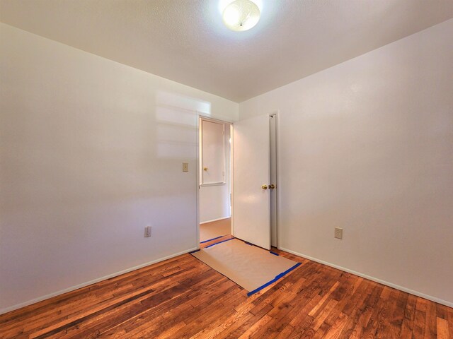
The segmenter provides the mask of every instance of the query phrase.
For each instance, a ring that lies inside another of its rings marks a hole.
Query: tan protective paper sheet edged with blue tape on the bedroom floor
[[[260,287],[273,283],[282,273],[296,268],[298,264],[239,239],[209,246],[192,255],[226,275],[248,292],[255,292]]]

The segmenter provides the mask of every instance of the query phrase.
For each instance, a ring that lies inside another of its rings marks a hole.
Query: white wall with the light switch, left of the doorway
[[[0,312],[194,249],[195,111],[238,104],[0,28]]]

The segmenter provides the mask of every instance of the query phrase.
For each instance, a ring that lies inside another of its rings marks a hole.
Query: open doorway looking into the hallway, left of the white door
[[[231,236],[232,125],[200,117],[200,244]]]

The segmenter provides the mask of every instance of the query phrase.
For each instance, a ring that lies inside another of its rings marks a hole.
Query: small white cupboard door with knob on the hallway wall
[[[202,120],[202,185],[225,183],[224,126]]]

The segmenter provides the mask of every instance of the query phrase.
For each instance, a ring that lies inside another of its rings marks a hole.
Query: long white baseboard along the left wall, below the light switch
[[[132,270],[138,270],[139,268],[152,265],[153,263],[159,263],[161,261],[164,261],[164,260],[167,260],[167,259],[171,259],[171,258],[174,258],[176,256],[180,256],[180,255],[189,253],[191,251],[195,251],[196,249],[197,249],[197,247],[194,247],[193,249],[188,249],[188,250],[176,253],[176,254],[171,254],[169,256],[165,256],[164,258],[159,258],[159,259],[156,259],[156,260],[153,260],[153,261],[149,261],[147,263],[142,263],[139,266],[134,266],[134,267],[131,267],[131,268],[127,268],[125,270],[120,270],[119,272],[112,273],[112,274],[109,274],[109,275],[105,275],[105,276],[103,276],[101,278],[96,278],[94,280],[87,281],[86,283],[81,283],[79,285],[68,287],[68,288],[66,288],[64,290],[59,290],[58,292],[50,293],[49,295],[43,295],[42,297],[38,297],[38,298],[35,298],[35,299],[32,299],[32,300],[28,300],[27,302],[21,302],[21,304],[16,304],[16,305],[13,305],[11,307],[6,307],[6,309],[0,309],[0,314],[5,314],[5,313],[8,313],[8,312],[14,311],[16,309],[21,309],[22,307],[29,306],[29,305],[35,304],[37,302],[42,302],[42,300],[50,299],[52,297],[56,297],[57,295],[63,295],[64,293],[71,292],[71,291],[74,291],[74,290],[78,290],[81,287],[86,287],[88,285],[99,283],[102,280],[107,280],[107,279],[116,277],[117,275],[122,275],[122,274],[125,274],[125,273],[129,273]]]

